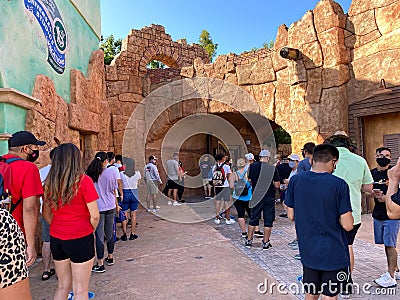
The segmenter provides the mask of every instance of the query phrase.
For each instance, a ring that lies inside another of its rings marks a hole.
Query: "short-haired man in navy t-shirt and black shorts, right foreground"
[[[336,147],[316,146],[312,170],[293,176],[287,188],[285,203],[299,238],[306,299],[319,294],[336,299],[351,288],[345,234],[354,221],[349,186],[332,175],[341,159]]]

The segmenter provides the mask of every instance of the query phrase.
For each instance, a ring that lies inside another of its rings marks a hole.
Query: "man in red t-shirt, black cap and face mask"
[[[39,197],[43,195],[39,170],[33,162],[39,157],[38,141],[28,131],[18,131],[8,140],[8,154],[3,158],[19,158],[9,164],[11,168],[11,196],[15,207],[12,215],[24,232],[26,239],[26,263],[32,265],[36,259],[35,231],[38,220]]]

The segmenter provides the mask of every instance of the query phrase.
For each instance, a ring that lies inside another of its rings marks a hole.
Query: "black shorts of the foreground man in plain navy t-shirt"
[[[350,268],[322,271],[303,266],[304,291],[312,295],[334,297],[339,293],[352,293]]]

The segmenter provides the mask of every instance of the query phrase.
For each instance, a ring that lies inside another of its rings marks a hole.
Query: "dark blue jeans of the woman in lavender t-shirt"
[[[115,209],[100,212],[100,221],[96,228],[97,259],[104,258],[104,235],[106,236],[107,253],[114,252],[114,217]]]

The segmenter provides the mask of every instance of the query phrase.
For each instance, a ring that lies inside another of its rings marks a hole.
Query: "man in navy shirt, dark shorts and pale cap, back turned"
[[[271,154],[268,150],[260,152],[260,161],[252,163],[249,167],[248,179],[253,188],[253,196],[250,200],[251,217],[249,221],[248,236],[245,246],[250,248],[253,241],[255,226],[258,226],[261,212],[264,217],[263,250],[271,248],[269,238],[272,231],[272,223],[275,220],[275,189],[279,188],[280,179],[276,168],[268,162]]]

